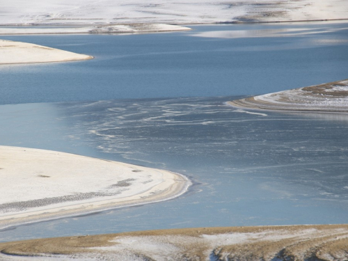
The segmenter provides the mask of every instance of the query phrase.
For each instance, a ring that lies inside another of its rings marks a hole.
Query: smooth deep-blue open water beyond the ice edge
[[[345,23],[192,27],[139,35],[1,36],[95,59],[1,65],[0,104],[255,95],[347,78]],[[200,37],[214,31],[225,38]]]

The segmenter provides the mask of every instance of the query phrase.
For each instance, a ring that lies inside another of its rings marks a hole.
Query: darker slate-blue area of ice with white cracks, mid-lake
[[[348,178],[342,173],[348,159],[348,149],[342,143],[345,123],[334,127],[315,117],[232,109],[223,104],[226,99],[123,100],[95,106],[88,106],[88,102],[59,106],[67,120],[74,118],[81,136],[86,139],[88,134],[90,145],[102,145],[103,152],[133,163],[165,165],[174,171],[178,166],[200,171],[205,166],[203,172],[207,173],[228,169],[231,175],[277,177],[333,194],[342,191],[334,187],[337,180]],[[319,180],[313,175],[319,175]]]

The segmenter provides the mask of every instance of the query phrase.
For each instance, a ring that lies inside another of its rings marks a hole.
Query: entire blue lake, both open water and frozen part
[[[231,37],[234,34],[230,31],[237,29],[276,30],[292,26],[313,27],[311,30],[319,33],[237,40],[194,36],[223,30],[226,31],[223,35]],[[341,27],[343,30],[338,31]],[[7,77],[4,82],[8,86],[17,81],[13,85],[17,89],[5,88],[12,93],[11,99],[11,95],[0,96],[12,101],[2,103],[13,103],[0,106],[1,145],[59,150],[164,168],[188,175],[194,185],[184,196],[162,203],[3,230],[0,241],[159,228],[347,223],[348,116],[255,113],[224,104],[241,97],[235,96],[239,94],[267,93],[290,88],[288,84],[296,82],[306,86],[347,78],[347,70],[340,67],[348,62],[344,28],[345,24],[197,26],[196,31],[173,34],[11,37],[31,38],[37,43],[45,40],[45,45],[51,41],[55,47],[62,47],[62,42],[80,41],[81,45],[67,47],[77,48],[70,49],[75,52],[85,48],[87,54],[105,54],[85,62],[1,68],[1,79]],[[89,37],[99,39],[96,42],[105,41],[104,48],[98,49],[100,45]],[[140,48],[143,42],[136,41],[139,38],[152,42],[143,51],[130,48],[134,55],[121,58],[127,54],[127,45]],[[324,44],[316,46],[313,39]],[[189,51],[185,54],[173,52],[175,48],[184,50],[185,40],[197,44],[193,47],[187,42]],[[124,49],[120,48],[122,41]],[[173,49],[154,54],[156,49],[164,48],[164,42],[167,45],[172,42]],[[114,44],[120,49],[114,49],[111,58],[107,58],[105,49]],[[273,48],[277,51],[269,51]],[[226,51],[216,51],[221,49]],[[321,64],[308,61],[311,52],[313,61],[320,60]],[[320,55],[315,55],[317,52]],[[255,63],[251,63],[253,58]],[[136,61],[142,63],[136,67]],[[239,66],[235,61],[239,61]],[[118,72],[122,66],[127,72]],[[294,72],[299,74],[290,77]],[[82,73],[87,79],[81,77]],[[314,74],[317,76],[313,77]],[[214,81],[208,81],[209,77]],[[58,78],[59,81],[52,81]],[[72,82],[71,92],[62,79]],[[152,79],[154,86],[145,79]],[[164,84],[166,80],[168,85]],[[104,81],[104,85],[95,84],[97,81]],[[197,81],[200,84],[193,84]],[[264,84],[258,84],[259,81]],[[280,82],[283,85],[277,86]],[[118,88],[118,84],[129,88]],[[86,89],[81,90],[85,85]],[[32,92],[29,87],[34,88]],[[121,100],[113,100],[117,92]],[[106,94],[108,100],[95,102],[106,99]],[[136,99],[139,97],[142,98]],[[14,104],[31,99],[61,102]]]

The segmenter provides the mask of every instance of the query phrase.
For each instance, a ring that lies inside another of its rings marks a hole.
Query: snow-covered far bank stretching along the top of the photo
[[[3,0],[0,24],[134,24],[348,18],[346,0]]]

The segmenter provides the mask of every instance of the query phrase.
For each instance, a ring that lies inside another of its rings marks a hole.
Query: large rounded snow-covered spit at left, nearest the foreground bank
[[[184,193],[182,175],[49,150],[0,146],[0,227]]]

